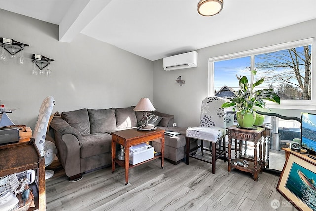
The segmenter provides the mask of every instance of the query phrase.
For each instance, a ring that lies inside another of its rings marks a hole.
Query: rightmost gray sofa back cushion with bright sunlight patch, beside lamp
[[[135,106],[127,108],[114,108],[117,129],[137,127],[137,118],[135,111],[133,110],[134,108]]]

